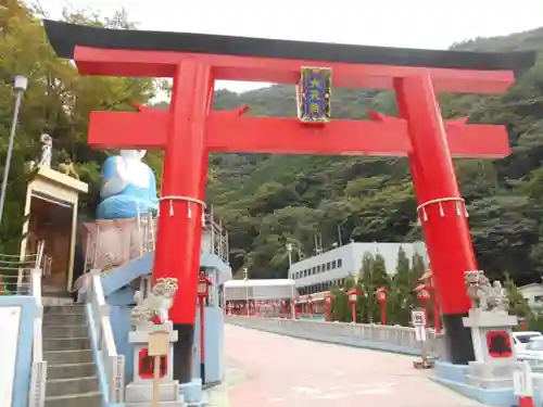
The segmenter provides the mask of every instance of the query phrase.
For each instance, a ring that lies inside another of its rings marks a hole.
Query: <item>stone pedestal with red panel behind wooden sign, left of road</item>
[[[138,329],[128,334],[134,344],[134,381],[126,386],[126,407],[151,407],[153,399],[153,358],[148,356],[149,334],[164,327]],[[179,393],[179,383],[173,378],[173,344],[177,342],[177,332],[169,326],[169,355],[161,363],[160,405],[185,407],[186,403]]]

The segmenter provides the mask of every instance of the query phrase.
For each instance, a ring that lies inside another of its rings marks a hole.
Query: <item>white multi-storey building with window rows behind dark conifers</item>
[[[397,252],[403,247],[407,258],[415,253],[428,264],[428,253],[424,242],[415,243],[349,243],[317,256],[293,263],[289,278],[295,281],[300,295],[328,291],[333,283],[342,284],[349,276],[355,276],[362,268],[364,253],[379,253],[384,257],[387,272],[393,275],[397,265]]]

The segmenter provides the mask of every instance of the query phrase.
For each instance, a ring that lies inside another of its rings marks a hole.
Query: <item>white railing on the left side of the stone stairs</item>
[[[42,252],[41,252],[42,255]],[[40,262],[37,259],[36,265]],[[41,302],[40,268],[30,270],[30,295],[35,301],[35,317],[33,330],[33,360],[30,373],[30,389],[28,392],[28,407],[43,407],[46,402],[47,361],[43,360],[42,321],[43,305]]]

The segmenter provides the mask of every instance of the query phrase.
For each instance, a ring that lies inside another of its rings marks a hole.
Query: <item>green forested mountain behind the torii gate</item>
[[[543,28],[452,47],[470,51],[543,50]],[[456,161],[480,267],[517,282],[539,281],[543,270],[543,62],[500,96],[441,94],[446,117],[469,114],[471,123],[505,124],[513,154],[489,162]],[[218,110],[251,106],[255,116],[294,116],[291,86],[241,94],[219,90]],[[364,118],[369,110],[395,114],[390,92],[333,89],[337,118]],[[216,154],[209,200],[226,221],[235,269],[253,277],[287,274],[286,243],[305,256],[320,233],[324,247],[341,236],[356,241],[421,238],[404,158]],[[353,270],[357,271],[357,270]]]

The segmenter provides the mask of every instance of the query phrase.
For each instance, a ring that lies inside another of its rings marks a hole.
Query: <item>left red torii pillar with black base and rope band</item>
[[[175,276],[185,285],[169,309],[179,338],[174,346],[174,377],[181,382],[190,381],[192,373],[197,297],[187,293],[195,293],[198,288],[205,193],[202,179],[207,175],[204,128],[213,88],[209,65],[188,60],[177,66],[168,113],[153,280]]]

